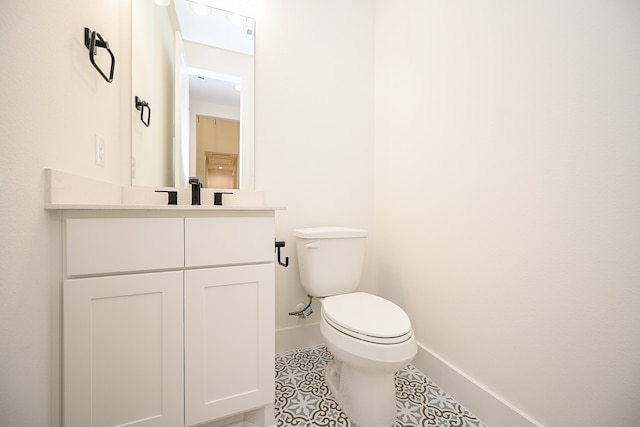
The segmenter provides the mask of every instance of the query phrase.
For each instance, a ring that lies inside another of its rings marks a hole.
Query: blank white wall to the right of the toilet
[[[376,4],[381,294],[539,423],[636,425],[640,4]]]

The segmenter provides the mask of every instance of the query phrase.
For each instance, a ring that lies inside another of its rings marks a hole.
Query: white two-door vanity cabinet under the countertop
[[[64,211],[62,425],[272,425],[273,220]]]

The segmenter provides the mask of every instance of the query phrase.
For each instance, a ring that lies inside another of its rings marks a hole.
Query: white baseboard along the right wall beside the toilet
[[[420,343],[411,364],[490,427],[544,427]]]

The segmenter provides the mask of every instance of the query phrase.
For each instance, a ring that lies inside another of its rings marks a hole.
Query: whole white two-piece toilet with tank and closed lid
[[[407,314],[384,298],[355,292],[362,275],[367,230],[294,230],[300,281],[321,298],[320,332],[334,361],[325,377],[347,416],[362,427],[396,419],[394,373],[417,352]]]

